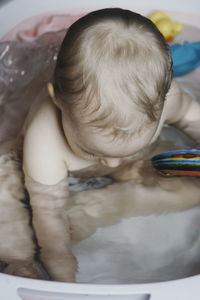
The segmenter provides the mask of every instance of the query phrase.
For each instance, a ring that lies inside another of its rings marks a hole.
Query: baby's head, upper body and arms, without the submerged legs
[[[135,161],[150,153],[164,123],[199,143],[199,116],[198,102],[172,81],[168,46],[149,19],[111,8],[89,13],[69,28],[48,94],[44,90],[34,103],[23,128],[32,224],[51,278],[75,280],[64,214],[72,203],[69,173],[134,179]],[[34,256],[29,243],[27,259]]]

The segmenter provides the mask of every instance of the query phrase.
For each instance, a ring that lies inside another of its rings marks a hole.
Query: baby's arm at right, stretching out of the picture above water
[[[200,103],[173,81],[164,106],[165,123],[181,129],[200,143]]]

